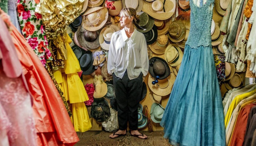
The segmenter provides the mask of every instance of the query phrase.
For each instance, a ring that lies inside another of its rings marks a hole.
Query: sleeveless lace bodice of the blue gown
[[[207,0],[198,7],[190,0],[190,32],[186,44],[191,48],[211,46],[211,20],[214,0]]]

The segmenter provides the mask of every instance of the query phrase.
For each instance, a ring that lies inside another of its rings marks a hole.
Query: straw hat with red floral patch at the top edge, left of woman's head
[[[118,1],[105,1],[105,7],[109,11],[109,15],[116,16],[119,15],[119,13],[122,10],[122,2],[121,0]]]

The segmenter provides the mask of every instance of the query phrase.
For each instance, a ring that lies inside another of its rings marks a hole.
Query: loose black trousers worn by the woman
[[[138,129],[138,106],[142,94],[142,78],[142,73],[138,78],[132,80],[128,78],[127,71],[122,79],[113,74],[120,130],[127,129],[127,121],[129,121],[129,129]]]

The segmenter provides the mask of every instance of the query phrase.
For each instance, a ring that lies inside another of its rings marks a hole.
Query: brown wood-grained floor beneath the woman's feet
[[[115,139],[109,138],[110,134],[110,132],[105,131],[77,132],[80,141],[78,141],[75,146],[170,146],[168,140],[163,138],[163,131],[154,131],[151,133],[148,131],[143,131],[143,134],[147,135],[148,137],[146,140],[132,137],[128,131],[126,136]]]

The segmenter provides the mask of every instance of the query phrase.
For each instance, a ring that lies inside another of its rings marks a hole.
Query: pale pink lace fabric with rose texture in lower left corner
[[[8,78],[0,68],[0,80],[1,133],[6,131],[10,145],[36,145],[31,98],[22,78]]]

